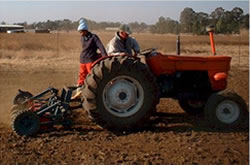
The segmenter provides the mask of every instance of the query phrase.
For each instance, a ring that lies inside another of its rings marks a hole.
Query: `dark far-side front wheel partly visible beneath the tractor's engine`
[[[190,115],[199,115],[204,112],[205,101],[178,100],[180,107]]]

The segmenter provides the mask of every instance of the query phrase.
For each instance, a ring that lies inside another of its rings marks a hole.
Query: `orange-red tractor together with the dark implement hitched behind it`
[[[213,54],[215,47],[210,31]],[[55,124],[71,125],[70,102],[78,101],[98,125],[110,130],[143,127],[160,98],[178,100],[188,114],[204,113],[216,127],[237,127],[248,120],[247,105],[227,86],[229,56],[163,55],[155,49],[134,56],[108,56],[95,62],[86,77],[82,99],[71,100],[76,89],[48,88],[33,96],[19,91],[14,99],[11,125],[18,135],[34,135]]]

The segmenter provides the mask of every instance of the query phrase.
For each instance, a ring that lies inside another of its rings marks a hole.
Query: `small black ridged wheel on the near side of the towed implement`
[[[40,118],[31,110],[20,110],[11,117],[11,127],[19,136],[32,136],[40,129]]]

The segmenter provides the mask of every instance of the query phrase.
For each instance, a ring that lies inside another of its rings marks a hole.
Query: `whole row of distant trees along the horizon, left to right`
[[[104,30],[106,28],[115,28],[121,25],[120,22],[95,22],[88,20],[89,29]],[[5,24],[2,22],[1,24]],[[23,25],[26,29],[50,29],[50,30],[76,30],[78,21],[69,19],[35,22],[28,24],[27,22],[17,23]],[[216,33],[235,34],[240,29],[249,29],[249,14],[244,14],[239,7],[226,11],[222,7],[216,8],[210,14],[204,12],[195,12],[192,8],[185,8],[181,14],[179,21],[169,17],[159,17],[154,25],[146,23],[132,22],[129,23],[134,32],[151,32],[151,33],[193,33],[197,35],[206,34],[206,27],[212,25],[215,27]]]

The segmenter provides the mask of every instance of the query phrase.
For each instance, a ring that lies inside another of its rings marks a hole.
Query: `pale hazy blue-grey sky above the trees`
[[[231,11],[234,7],[249,13],[249,1],[2,1],[0,0],[0,23],[34,23],[47,20],[84,17],[96,22],[144,22],[155,24],[160,16],[179,21],[185,7],[195,12],[211,14],[217,7]]]

